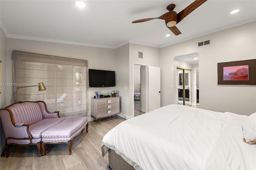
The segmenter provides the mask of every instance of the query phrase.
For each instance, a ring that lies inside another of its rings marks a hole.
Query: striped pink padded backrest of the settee
[[[15,123],[32,125],[43,119],[42,111],[38,103],[16,103],[15,105],[9,107],[9,109],[12,111]]]

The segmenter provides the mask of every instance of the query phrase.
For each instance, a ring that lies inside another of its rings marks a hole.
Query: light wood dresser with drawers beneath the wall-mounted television
[[[91,115],[95,119],[120,113],[119,97],[92,98]]]

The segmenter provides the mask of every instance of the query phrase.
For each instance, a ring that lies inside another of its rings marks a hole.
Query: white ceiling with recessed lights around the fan
[[[7,38],[117,48],[128,42],[164,47],[256,20],[256,0],[208,0],[176,25],[175,36],[156,18],[166,6],[177,13],[194,0],[0,0],[0,26]],[[236,14],[230,14],[234,9]],[[170,37],[165,37],[171,34]]]

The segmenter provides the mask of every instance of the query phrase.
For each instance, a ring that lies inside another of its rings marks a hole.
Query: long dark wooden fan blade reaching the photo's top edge
[[[180,11],[177,16],[178,16],[178,21],[177,24],[183,20],[188,14],[190,14],[192,11],[194,11],[196,8],[198,8],[200,5],[202,5],[204,2],[206,2],[207,0],[195,0],[194,2],[192,2],[192,4],[190,4],[189,6],[187,6],[184,10]]]

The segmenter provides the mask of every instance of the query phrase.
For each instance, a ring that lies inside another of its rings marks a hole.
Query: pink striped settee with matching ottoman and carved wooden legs
[[[5,134],[6,157],[9,145],[37,145],[39,156],[46,154],[45,144],[67,143],[72,154],[72,139],[86,128],[87,117],[60,117],[51,113],[44,101],[24,101],[0,109]],[[41,153],[41,148],[43,153]]]

